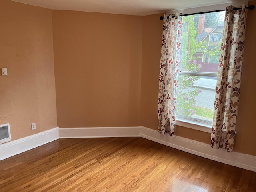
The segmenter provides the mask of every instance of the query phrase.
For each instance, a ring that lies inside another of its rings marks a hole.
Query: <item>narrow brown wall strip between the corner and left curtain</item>
[[[140,125],[157,130],[162,14],[143,17]]]

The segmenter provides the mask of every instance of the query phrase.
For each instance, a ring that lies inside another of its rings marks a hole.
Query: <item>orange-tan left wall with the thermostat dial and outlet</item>
[[[12,140],[55,128],[51,10],[0,1],[3,67],[8,76],[0,76],[0,124],[10,123]]]

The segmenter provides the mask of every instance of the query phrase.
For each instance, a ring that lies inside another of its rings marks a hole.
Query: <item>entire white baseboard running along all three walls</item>
[[[256,172],[256,156],[238,152],[215,150],[210,144],[179,137],[161,135],[158,131],[139,127],[94,127],[94,128],[54,128],[38,134],[0,145],[0,160],[36,148],[58,138],[100,138],[100,137],[143,137],[178,150],[204,158],[244,168]]]

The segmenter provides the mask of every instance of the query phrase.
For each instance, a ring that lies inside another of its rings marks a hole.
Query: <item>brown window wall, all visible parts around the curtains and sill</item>
[[[250,2],[256,4],[256,1]],[[141,125],[157,130],[158,76],[162,40],[161,15],[144,16],[142,44]],[[255,44],[256,10],[249,10],[246,22],[244,64],[234,151],[256,156]],[[176,126],[175,134],[210,144],[210,133]]]

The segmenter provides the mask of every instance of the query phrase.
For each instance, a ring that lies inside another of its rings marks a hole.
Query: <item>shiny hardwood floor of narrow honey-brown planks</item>
[[[256,192],[256,172],[140,137],[59,139],[0,161],[0,192]]]

